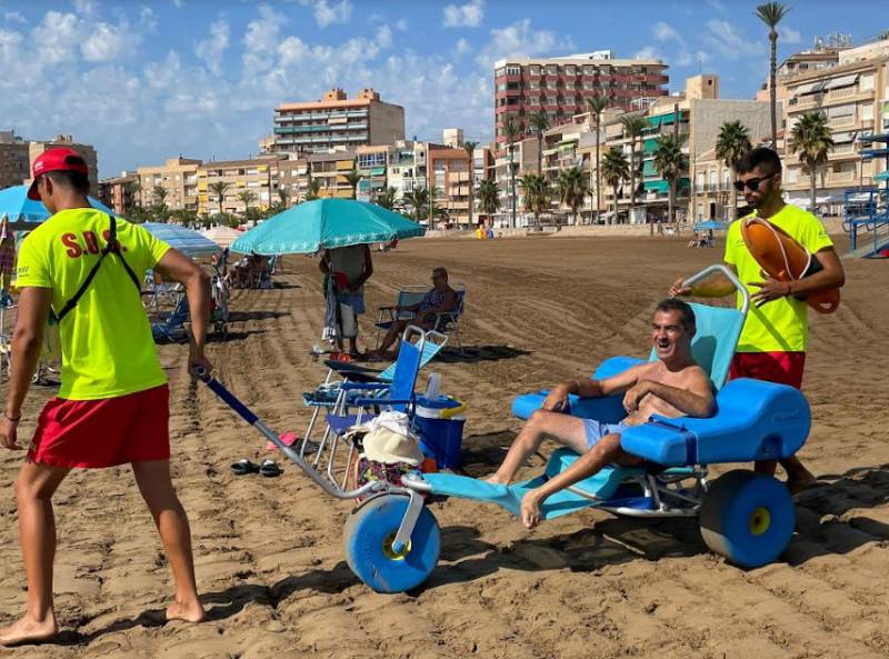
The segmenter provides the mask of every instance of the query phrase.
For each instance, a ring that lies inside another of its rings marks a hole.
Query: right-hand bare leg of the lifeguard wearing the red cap
[[[186,510],[179,502],[170,479],[170,462],[167,460],[133,462],[132,472],[139,485],[139,491],[154,518],[167,560],[173,571],[176,601],[167,607],[167,619],[200,622],[207,613],[198,599],[198,588],[194,582],[191,530]]]

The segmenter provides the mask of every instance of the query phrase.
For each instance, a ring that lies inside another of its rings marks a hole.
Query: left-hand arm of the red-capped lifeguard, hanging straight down
[[[16,329],[12,332],[12,368],[7,403],[0,423],[0,443],[8,449],[22,448],[16,441],[16,430],[21,418],[22,402],[43,349],[43,328],[47,326],[51,302],[52,289],[26,287],[21,290]]]

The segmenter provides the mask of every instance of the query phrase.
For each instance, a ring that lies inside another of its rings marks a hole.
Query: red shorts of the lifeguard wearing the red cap
[[[100,468],[170,459],[167,385],[100,400],[53,398],[40,412],[28,459]]]

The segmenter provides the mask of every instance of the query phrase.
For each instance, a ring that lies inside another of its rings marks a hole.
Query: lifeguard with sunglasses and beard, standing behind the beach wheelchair
[[[846,276],[833,251],[833,242],[818,218],[785,203],[778,153],[766,147],[748,151],[735,164],[735,171],[738,174],[735,187],[743,192],[747,203],[753,209],[752,214],[787,231],[818,259],[823,269],[796,281],[766,277],[743,242],[741,223],[735,222],[729,227],[725,261],[747,286],[753,302],[738,340],[730,377],[757,378],[799,389],[809,335],[805,297],[841,287]],[[733,291],[732,283],[722,276],[693,288],[683,287],[679,279],[670,288],[671,296],[706,298],[725,297]],[[761,461],[757,462],[756,469],[771,475],[776,466],[773,460]],[[796,457],[782,460],[781,467],[787,471],[787,487],[791,492],[796,493],[815,481],[815,476]]]

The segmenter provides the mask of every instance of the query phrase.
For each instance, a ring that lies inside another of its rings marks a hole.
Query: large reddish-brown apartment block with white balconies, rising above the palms
[[[587,111],[587,99],[606,97],[625,111],[647,108],[667,96],[669,78],[659,59],[615,59],[610,50],[552,59],[495,62],[495,132],[502,148],[503,121],[512,117],[523,136],[529,118],[543,111],[550,124]]]

